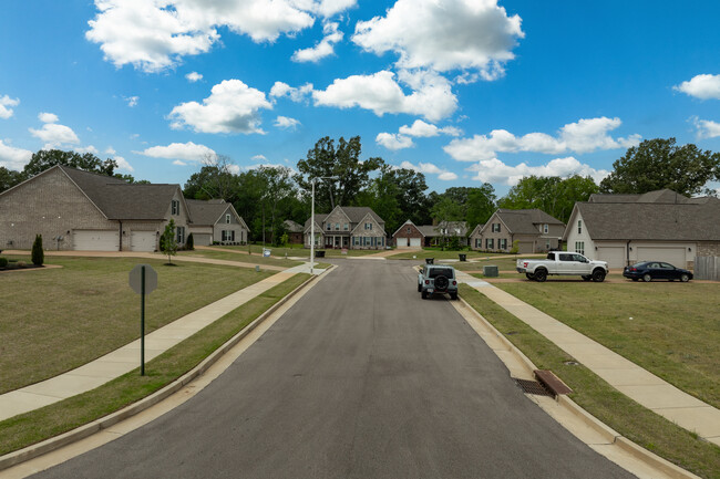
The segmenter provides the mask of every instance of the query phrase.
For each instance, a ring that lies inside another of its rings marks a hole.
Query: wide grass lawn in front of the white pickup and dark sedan
[[[720,407],[720,283],[495,285]]]

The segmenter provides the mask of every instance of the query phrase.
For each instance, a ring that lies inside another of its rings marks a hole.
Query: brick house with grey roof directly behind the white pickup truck
[[[470,235],[474,250],[508,252],[517,241],[520,253],[546,252],[559,247],[565,223],[537,208],[500,208]]]

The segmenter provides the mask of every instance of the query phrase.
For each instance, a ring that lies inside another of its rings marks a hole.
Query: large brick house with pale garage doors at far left
[[[135,185],[55,165],[0,194],[0,248],[155,251],[173,219],[182,246],[189,211],[179,185]]]

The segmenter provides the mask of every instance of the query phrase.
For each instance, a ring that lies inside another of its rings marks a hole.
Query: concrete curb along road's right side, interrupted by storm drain
[[[459,300],[470,311],[472,311],[477,316],[477,319],[490,331],[492,331],[493,334],[495,334],[495,336],[497,336],[497,339],[503,343],[503,345],[507,347],[507,351],[510,351],[517,360],[520,360],[520,362],[526,368],[528,374],[532,375],[533,371],[537,369],[537,367],[533,364],[533,362],[529,361],[527,356],[525,356],[525,354],[523,354],[523,352],[520,351],[507,337],[505,337],[504,334],[497,331],[495,326],[493,326],[487,320],[485,320],[485,317],[482,314],[480,314],[477,310],[471,306],[470,303],[467,303],[463,298],[459,298]],[[502,361],[502,358],[500,360]],[[619,433],[617,433],[616,430],[614,430],[613,428],[610,428],[609,426],[600,421],[590,413],[583,409],[580,406],[577,405],[577,403],[575,403],[569,397],[559,395],[557,396],[556,402],[566,412],[573,414],[575,417],[583,420],[583,423],[585,423],[587,426],[593,428],[596,433],[601,435],[608,441],[608,444],[617,445],[619,448],[621,448],[626,452],[629,452],[635,458],[645,461],[650,467],[659,469],[666,475],[668,475],[669,477],[677,478],[677,479],[700,479],[699,476],[696,476],[692,472],[685,470],[679,466],[673,465],[667,459],[661,458],[655,452],[651,452],[638,446],[637,444],[632,442],[630,439],[621,436]]]

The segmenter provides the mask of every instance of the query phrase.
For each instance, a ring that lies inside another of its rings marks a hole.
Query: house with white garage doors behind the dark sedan
[[[669,189],[592,195],[575,204],[563,239],[568,251],[610,268],[646,260],[692,268],[696,256],[720,256],[720,199]]]

